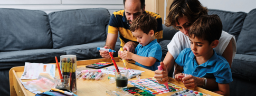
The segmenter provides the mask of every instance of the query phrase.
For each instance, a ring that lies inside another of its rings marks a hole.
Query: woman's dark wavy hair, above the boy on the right
[[[203,7],[198,0],[174,0],[170,5],[165,26],[179,25],[178,18],[183,16],[187,18],[188,22],[194,23],[201,15],[207,15],[207,12],[208,9]]]

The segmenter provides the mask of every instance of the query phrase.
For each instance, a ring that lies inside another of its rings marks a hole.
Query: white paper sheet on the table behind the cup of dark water
[[[118,66],[118,69],[119,70],[121,70],[121,69],[124,70],[124,68],[119,67],[119,66]],[[115,70],[116,70],[115,66],[108,66],[107,68],[101,69],[101,71],[103,73],[108,73],[108,74],[112,74],[112,75],[115,75]],[[127,69],[127,70],[129,70],[129,75],[139,73],[139,72],[140,73],[144,72],[144,71],[135,70],[135,69]]]

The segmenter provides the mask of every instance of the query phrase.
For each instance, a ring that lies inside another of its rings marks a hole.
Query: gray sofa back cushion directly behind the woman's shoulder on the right
[[[221,11],[219,9],[208,9],[208,14],[217,14],[218,16],[220,16],[223,25],[223,31],[234,35],[235,40],[238,40],[238,36],[242,30],[243,22],[247,13]]]

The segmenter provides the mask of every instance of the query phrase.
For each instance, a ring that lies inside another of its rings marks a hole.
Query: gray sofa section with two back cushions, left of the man
[[[54,63],[55,56],[60,59],[66,54],[77,55],[77,60],[101,58],[97,47],[105,45],[109,19],[105,8],[50,14],[0,8],[1,95],[10,95],[8,73],[14,66],[25,62]],[[115,50],[119,48],[117,42]]]

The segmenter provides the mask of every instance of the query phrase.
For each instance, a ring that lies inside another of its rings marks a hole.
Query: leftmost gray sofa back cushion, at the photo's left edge
[[[48,15],[43,11],[0,8],[0,51],[52,49]]]

